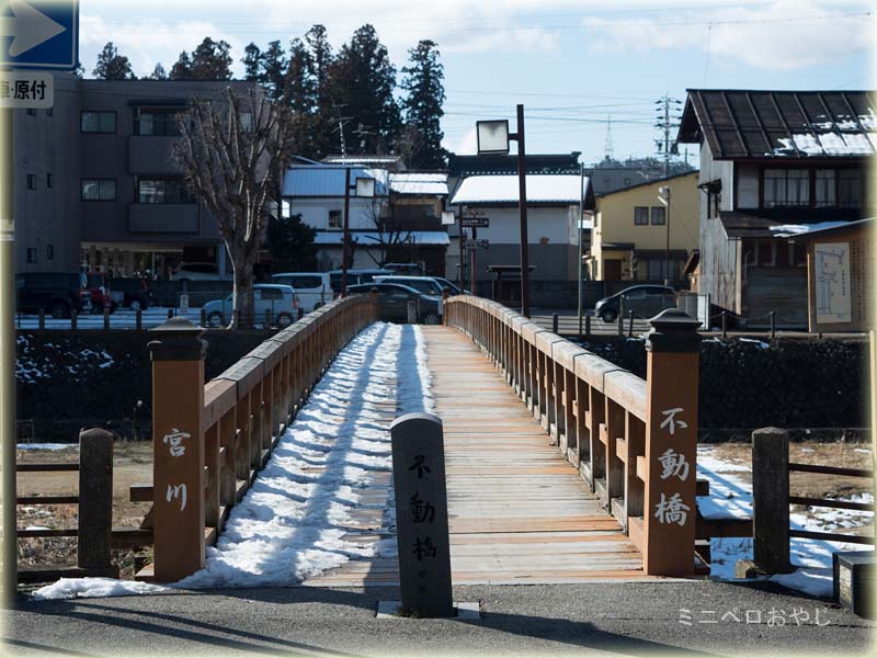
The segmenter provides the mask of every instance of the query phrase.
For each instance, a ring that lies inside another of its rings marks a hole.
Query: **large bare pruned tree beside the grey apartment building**
[[[255,86],[195,98],[178,115],[174,158],[192,193],[219,223],[235,271],[229,328],[253,321],[253,265],[263,243],[277,178],[293,152],[288,104],[269,102]]]

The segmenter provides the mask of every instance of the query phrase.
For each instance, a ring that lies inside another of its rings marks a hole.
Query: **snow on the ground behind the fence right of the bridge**
[[[706,519],[751,518],[752,485],[739,477],[750,472],[748,466],[732,464],[713,456],[713,449],[697,449],[697,475],[709,479],[709,496],[698,497],[697,504]],[[737,474],[737,475],[736,475]],[[874,502],[870,494],[853,496],[850,500]],[[873,521],[872,512],[810,508],[809,514],[793,513],[790,526],[796,530],[835,532],[843,527],[856,527]],[[821,540],[790,541],[791,564],[799,567],[791,574],[772,576],[771,580],[813,597],[832,595],[831,556],[838,551],[867,551],[862,544],[824,542]],[[752,558],[751,538],[714,538],[710,545],[713,557],[711,576],[732,580],[738,559]]]

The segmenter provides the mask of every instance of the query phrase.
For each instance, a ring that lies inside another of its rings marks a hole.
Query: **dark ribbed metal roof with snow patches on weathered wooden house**
[[[877,151],[869,91],[690,89],[679,140],[716,159],[851,158]]]

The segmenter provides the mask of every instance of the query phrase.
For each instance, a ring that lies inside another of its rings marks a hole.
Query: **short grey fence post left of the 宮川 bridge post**
[[[110,552],[113,532],[113,434],[95,428],[79,434],[79,535],[77,565],[90,576],[118,578]]]

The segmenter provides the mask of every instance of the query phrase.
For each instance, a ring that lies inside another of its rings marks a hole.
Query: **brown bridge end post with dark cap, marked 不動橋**
[[[650,320],[646,342],[642,561],[650,575],[694,574],[697,368],[701,322],[676,308]]]

